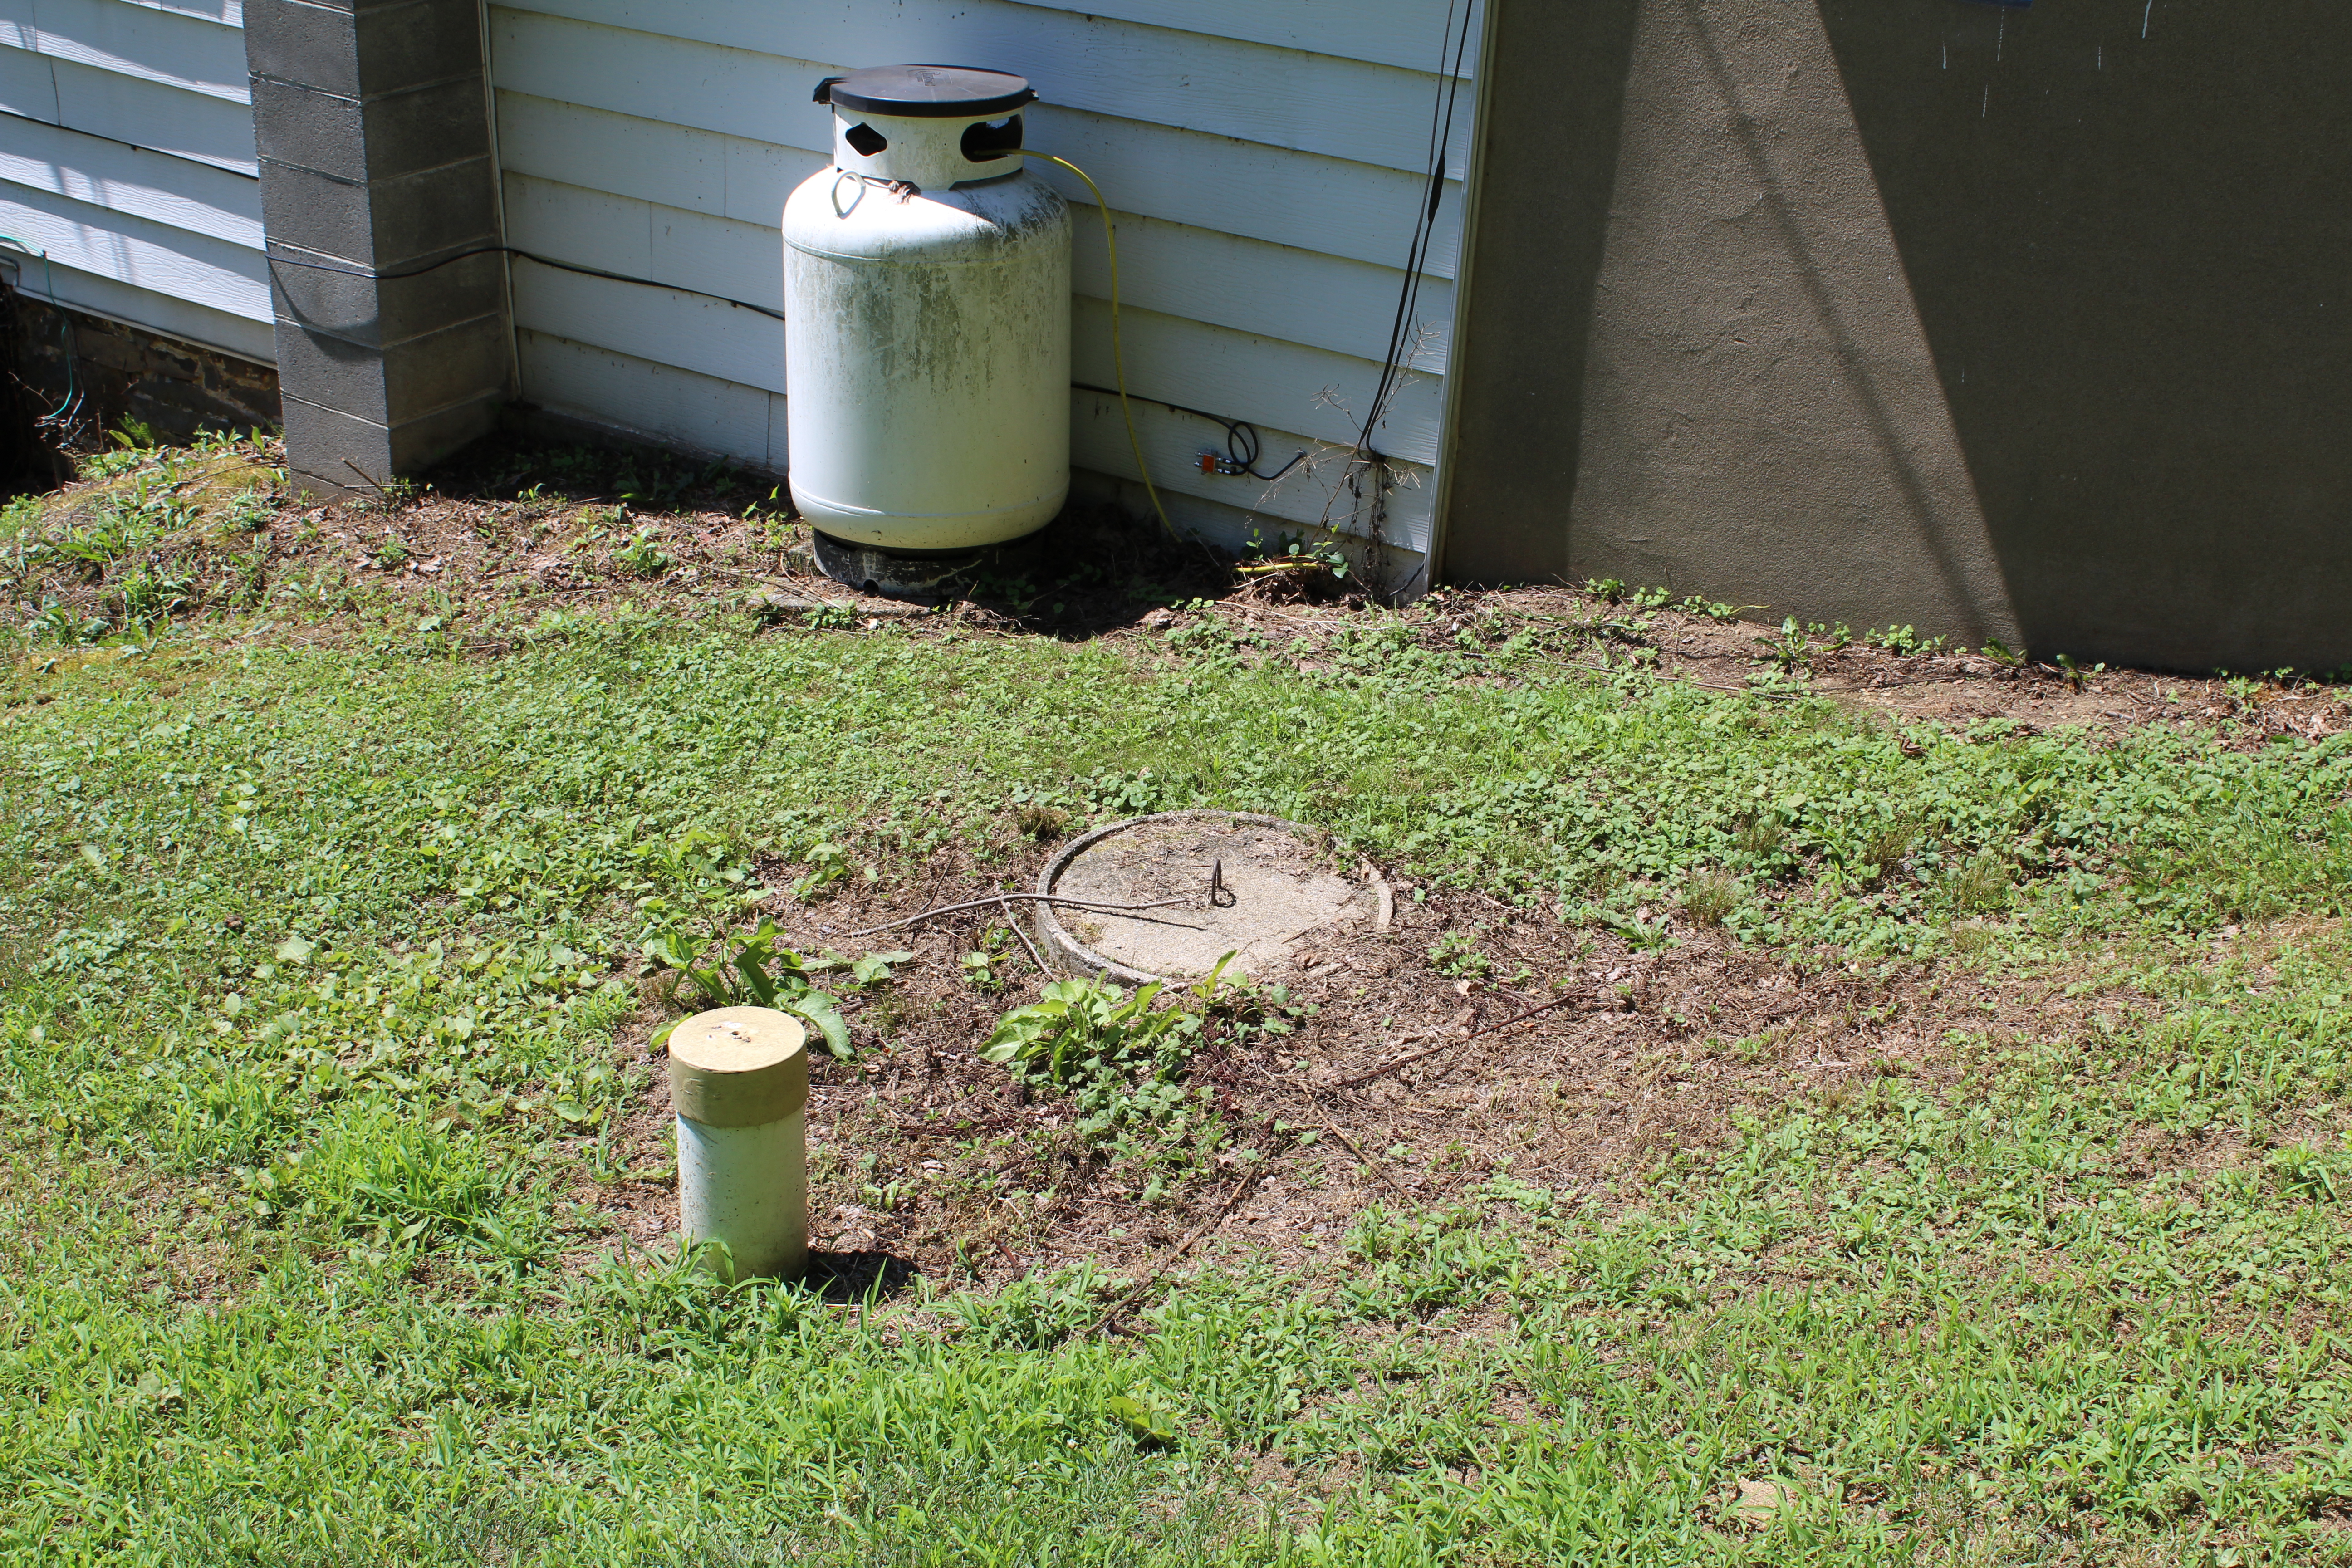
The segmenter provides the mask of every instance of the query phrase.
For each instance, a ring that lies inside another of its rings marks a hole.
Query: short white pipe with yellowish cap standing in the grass
[[[800,1020],[760,1006],[696,1013],[670,1032],[677,1225],[734,1279],[797,1274],[809,1258],[809,1056]]]

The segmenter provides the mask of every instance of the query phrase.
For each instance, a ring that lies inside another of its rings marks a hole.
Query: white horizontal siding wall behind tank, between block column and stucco
[[[896,61],[1014,71],[1042,101],[1028,146],[1103,186],[1120,228],[1136,425],[1171,510],[1235,538],[1345,517],[1338,463],[1282,484],[1202,475],[1258,425],[1261,468],[1355,440],[1381,376],[1399,263],[1425,202],[1444,0],[510,0],[489,12],[510,242],[781,308],[783,200],[826,165],[823,75]],[[1421,287],[1416,374],[1376,444],[1397,461],[1388,541],[1423,550],[1461,233],[1470,92]],[[1075,376],[1112,386],[1110,263],[1077,207]],[[781,324],[696,299],[515,263],[524,397],[786,468]],[[1117,400],[1073,393],[1073,463],[1136,477]]]

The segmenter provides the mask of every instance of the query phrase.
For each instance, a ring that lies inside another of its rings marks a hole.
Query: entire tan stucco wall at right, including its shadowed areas
[[[2352,12],[1498,0],[1496,26],[1451,576],[2352,663]]]

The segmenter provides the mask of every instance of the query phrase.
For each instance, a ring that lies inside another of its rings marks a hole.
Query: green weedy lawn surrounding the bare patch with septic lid
[[[1376,611],[1315,670],[1214,616],[322,625],[9,686],[7,1561],[2352,1563],[2343,736],[1896,729]],[[2114,1001],[1606,1194],[1188,1260],[1122,1335],[1084,1267],[602,1255],[644,926],[1040,802],[1637,943],[1717,877],[1757,947]]]

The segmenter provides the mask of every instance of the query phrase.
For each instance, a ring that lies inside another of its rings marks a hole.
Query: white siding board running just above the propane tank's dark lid
[[[774,0],[510,0],[508,9],[757,52],[755,71],[769,82],[762,125],[776,118],[807,125],[790,136],[743,127],[769,141],[807,143],[833,134],[830,110],[809,101],[821,75],[861,63],[953,59],[1025,75],[1058,108],[1392,169],[1430,162],[1428,120],[1416,125],[1397,103],[1428,103],[1437,78],[1061,7],[1007,0],[898,0],[891,7],[858,0],[795,7]],[[1470,125],[1458,115],[1449,155],[1461,160],[1468,143]]]

